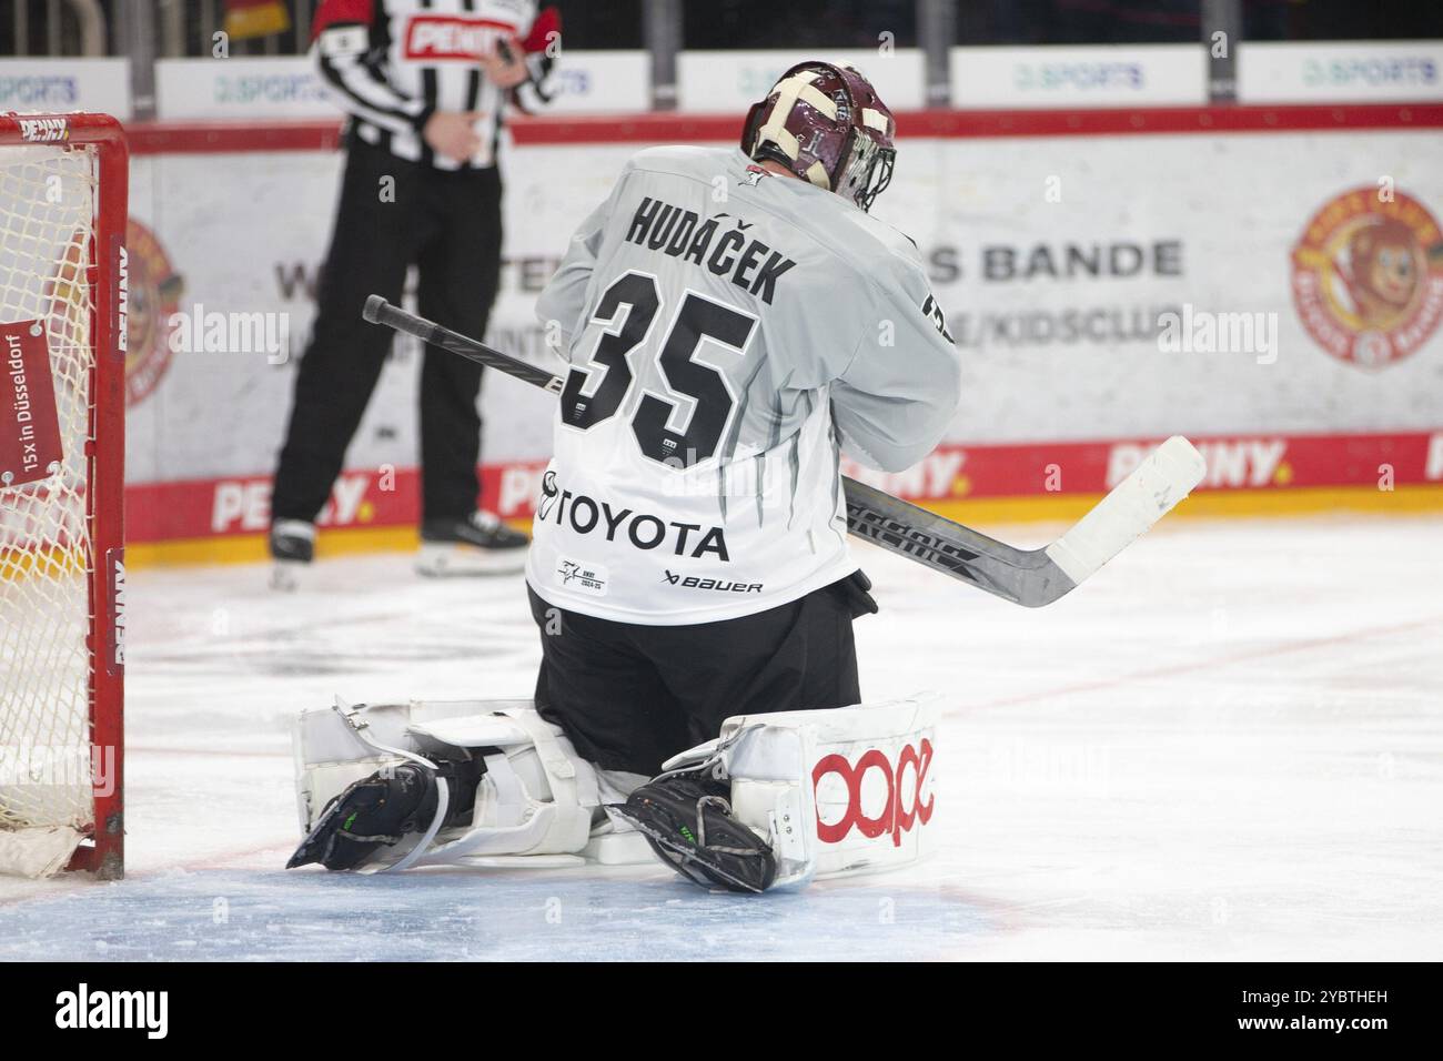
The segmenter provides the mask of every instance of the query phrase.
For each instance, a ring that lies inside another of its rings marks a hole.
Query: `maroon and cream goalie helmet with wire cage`
[[[872,209],[892,180],[892,111],[853,66],[799,62],[752,105],[742,150]]]

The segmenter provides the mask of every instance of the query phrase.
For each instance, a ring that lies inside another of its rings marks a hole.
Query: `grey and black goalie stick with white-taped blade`
[[[367,299],[362,316],[553,394],[560,394],[566,383],[538,365],[392,306],[380,294]],[[1188,497],[1202,481],[1203,471],[1202,455],[1188,439],[1175,435],[1061,538],[1042,549],[1016,549],[843,476],[847,530],[1004,601],[1040,608],[1072,590],[1146,533]]]

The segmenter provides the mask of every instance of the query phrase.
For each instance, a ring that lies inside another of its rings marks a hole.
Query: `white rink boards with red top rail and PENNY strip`
[[[730,126],[518,124],[491,341],[545,359],[535,294],[625,159],[648,143],[723,144]],[[1071,515],[1183,433],[1214,447],[1215,468],[1185,511],[1436,507],[1439,127],[1437,105],[903,115],[877,215],[916,240],[967,372],[942,446],[880,485],[974,518]],[[137,559],[150,544],[177,559],[255,549],[329,234],[335,140],[329,124],[137,137]],[[1380,247],[1414,264],[1398,305],[1369,279]],[[268,331],[237,332],[241,313]],[[416,361],[397,348],[325,517],[354,528],[355,547],[403,543],[413,521]],[[530,514],[550,413],[544,394],[486,387],[483,478],[508,518]]]

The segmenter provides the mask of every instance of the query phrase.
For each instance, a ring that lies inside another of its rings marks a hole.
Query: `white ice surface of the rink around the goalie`
[[[945,697],[942,850],[760,898],[659,865],[284,872],[290,717],[527,694],[521,580],[137,572],[128,876],[0,879],[0,957],[1437,960],[1440,543],[1439,517],[1172,518],[1042,611],[863,547],[863,691]]]

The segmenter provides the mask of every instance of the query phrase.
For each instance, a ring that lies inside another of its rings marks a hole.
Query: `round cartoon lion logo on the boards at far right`
[[[1359,188],[1332,199],[1293,248],[1293,303],[1341,361],[1382,368],[1443,319],[1443,234],[1417,199]]]

